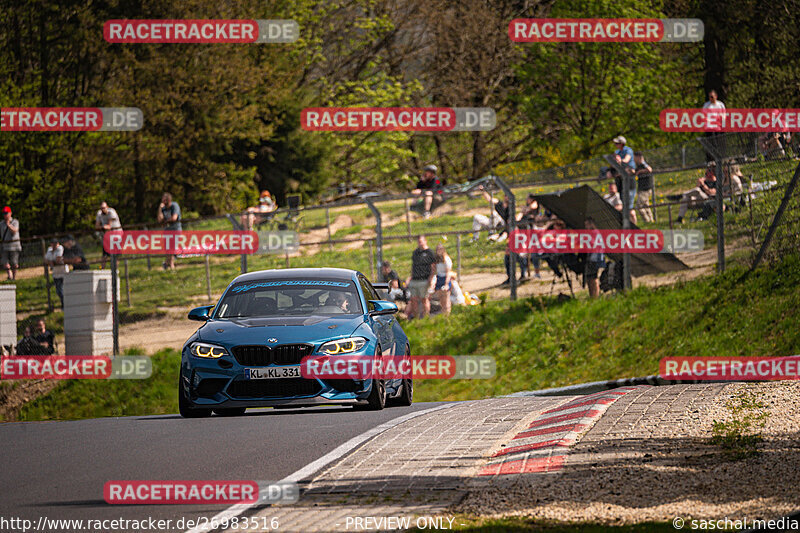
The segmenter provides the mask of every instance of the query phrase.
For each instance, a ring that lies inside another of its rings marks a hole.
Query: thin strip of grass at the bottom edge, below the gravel
[[[444,523],[447,525],[446,520]],[[517,531],[536,533],[601,533],[606,531],[612,533],[674,533],[676,531],[672,524],[667,522],[647,522],[630,526],[605,526],[585,522],[560,524],[557,522],[521,517],[489,519],[459,515],[455,516],[453,530],[469,533],[506,533]],[[423,530],[414,529],[413,531]]]

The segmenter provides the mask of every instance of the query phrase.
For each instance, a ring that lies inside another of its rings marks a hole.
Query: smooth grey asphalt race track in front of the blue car
[[[0,516],[29,519],[209,518],[228,505],[109,505],[110,480],[279,481],[399,416],[440,403],[250,410],[241,417],[176,415],[0,424]]]

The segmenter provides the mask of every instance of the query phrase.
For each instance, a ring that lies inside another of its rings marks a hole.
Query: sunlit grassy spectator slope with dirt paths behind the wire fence
[[[774,261],[797,251],[800,242],[797,152],[780,142],[776,145],[769,139],[766,141],[756,134],[730,134],[644,151],[645,160],[654,170],[655,186],[649,207],[654,221],[640,226],[702,229],[706,252],[717,248],[720,270],[726,261],[743,261],[754,266],[762,258]],[[723,212],[716,200],[701,201],[702,198],[687,196],[707,172],[708,159],[716,161],[715,173],[723,182],[729,181],[726,172],[741,173],[741,191],[725,189],[723,217],[716,216]],[[119,321],[132,322],[160,312],[213,302],[233,277],[248,270],[341,266],[378,279],[380,264],[389,262],[405,279],[410,274],[411,255],[419,235],[428,237],[431,248],[438,244],[445,246],[462,289],[473,293],[507,290],[514,297],[518,289],[517,268],[524,266],[532,271],[534,265],[527,264],[528,258],[507,254],[507,244],[499,237],[502,224],[497,221],[494,201],[502,199],[504,184],[509,185],[506,193],[511,211],[516,213],[524,207],[528,193],[552,192],[581,181],[588,182],[598,192],[606,192],[608,182],[600,176],[603,166],[609,166],[607,159],[593,159],[527,177],[488,178],[446,187],[441,194],[431,197],[430,217],[425,216],[424,195],[403,194],[367,195],[328,205],[295,204],[252,220],[257,231],[296,231],[300,248],[291,254],[179,257],[175,271],[162,269],[163,258],[159,256],[120,256],[116,265],[121,287],[117,302]],[[680,225],[677,219],[682,211],[685,212]],[[229,230],[250,222],[246,215],[237,213],[184,220],[183,227]],[[125,225],[125,229],[156,229],[156,226]],[[102,266],[101,236],[94,232],[74,235],[90,266]],[[52,274],[42,264],[48,240],[48,236],[23,239],[24,272],[17,282],[20,335],[26,326],[35,326],[43,316],[47,316],[48,329],[56,333],[60,330],[61,316],[57,311],[60,302]],[[530,258],[531,263],[534,259]],[[541,270],[545,279],[538,283],[540,289],[543,287],[550,293],[566,290],[563,278],[557,278],[544,265]],[[507,277],[511,283],[507,288],[501,287]],[[56,312],[50,314],[53,310]]]

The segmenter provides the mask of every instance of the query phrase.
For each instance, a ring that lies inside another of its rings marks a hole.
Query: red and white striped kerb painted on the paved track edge
[[[479,476],[556,472],[569,447],[605,413],[608,406],[639,387],[620,387],[580,396],[539,415],[508,446],[492,454]]]

